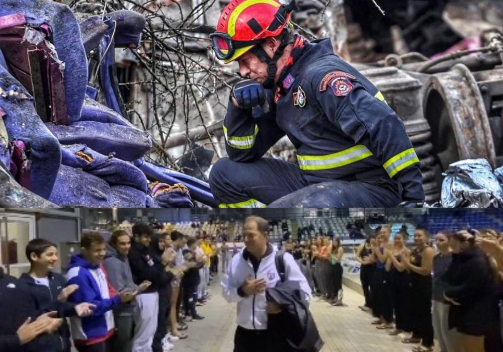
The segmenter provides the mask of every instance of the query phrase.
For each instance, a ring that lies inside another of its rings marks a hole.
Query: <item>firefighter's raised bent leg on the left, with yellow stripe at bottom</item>
[[[307,186],[296,163],[271,158],[252,162],[218,160],[210,173],[220,207],[257,208]]]

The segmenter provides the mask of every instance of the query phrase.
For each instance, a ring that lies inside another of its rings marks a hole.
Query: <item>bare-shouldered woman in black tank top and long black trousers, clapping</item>
[[[402,262],[410,272],[410,326],[412,337],[402,340],[403,343],[422,342],[413,349],[414,352],[433,351],[432,323],[432,269],[435,250],[428,245],[430,233],[425,228],[416,228],[414,232],[415,247],[410,258]]]

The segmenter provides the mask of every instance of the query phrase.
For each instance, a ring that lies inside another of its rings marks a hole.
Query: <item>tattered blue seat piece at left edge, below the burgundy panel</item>
[[[21,140],[30,150],[30,184],[23,186],[49,199],[61,163],[59,143],[37,115],[28,91],[2,66],[0,89],[7,92],[6,98],[0,97],[0,108],[6,113],[9,140]]]

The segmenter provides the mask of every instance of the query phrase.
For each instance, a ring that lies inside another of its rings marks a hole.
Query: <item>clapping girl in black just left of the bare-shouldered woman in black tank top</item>
[[[410,328],[410,304],[409,304],[409,273],[406,270],[402,258],[408,257],[410,250],[405,246],[406,237],[403,232],[395,234],[394,248],[388,251],[386,271],[389,273],[393,310],[395,312],[395,329],[389,334],[396,336]]]

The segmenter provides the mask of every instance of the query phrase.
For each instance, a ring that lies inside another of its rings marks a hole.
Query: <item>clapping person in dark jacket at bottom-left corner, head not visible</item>
[[[0,351],[52,351],[50,334],[63,320],[51,314],[38,315],[35,303],[19,280],[0,267]],[[49,337],[49,338],[46,338]]]

